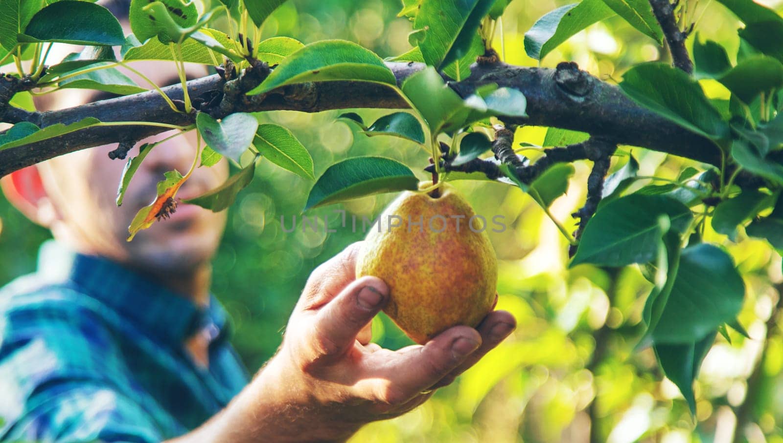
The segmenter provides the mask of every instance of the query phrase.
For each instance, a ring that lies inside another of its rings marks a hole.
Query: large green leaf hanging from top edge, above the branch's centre
[[[419,45],[424,63],[441,70],[461,59],[494,0],[427,0],[420,3],[413,29],[426,29]]]

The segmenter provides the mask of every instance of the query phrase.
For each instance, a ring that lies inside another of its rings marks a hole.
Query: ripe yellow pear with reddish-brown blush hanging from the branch
[[[404,191],[391,202],[367,228],[356,261],[356,277],[386,282],[384,312],[419,344],[449,327],[478,326],[496,298],[486,220],[451,185],[435,192]]]

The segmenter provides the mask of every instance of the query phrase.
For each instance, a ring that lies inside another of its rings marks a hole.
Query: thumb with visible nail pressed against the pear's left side
[[[388,286],[377,277],[353,281],[313,319],[309,343],[311,359],[338,356],[352,348],[359,331],[373,320],[388,300]]]

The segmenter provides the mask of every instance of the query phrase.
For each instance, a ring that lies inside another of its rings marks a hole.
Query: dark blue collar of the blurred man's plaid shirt
[[[226,311],[214,295],[204,308],[143,274],[109,259],[74,252],[49,240],[38,253],[38,273],[46,280],[70,282],[155,338],[181,346],[207,328],[213,342],[229,336]]]

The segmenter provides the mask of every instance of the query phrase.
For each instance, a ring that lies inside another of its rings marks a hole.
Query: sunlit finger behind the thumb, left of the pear
[[[362,243],[356,241],[348,245],[312,271],[299,299],[300,309],[318,309],[355,280],[356,257]]]

